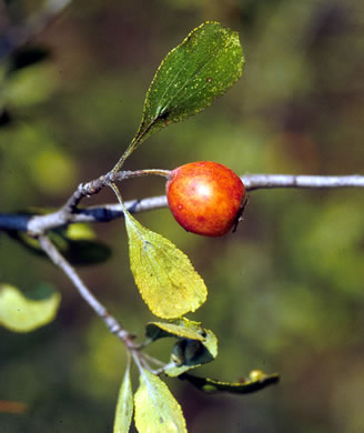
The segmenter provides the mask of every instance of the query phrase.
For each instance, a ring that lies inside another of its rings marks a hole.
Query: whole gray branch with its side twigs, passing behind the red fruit
[[[152,171],[150,171],[151,173]],[[154,174],[158,171],[155,171]],[[79,274],[71,264],[62,256],[58,249],[52,244],[50,239],[44,234],[51,229],[67,225],[75,222],[108,222],[117,218],[122,218],[123,212],[119,204],[105,204],[102,207],[90,207],[80,209],[78,204],[88,195],[98,193],[103,187],[108,185],[109,181],[123,180],[133,175],[144,175],[146,172],[119,172],[108,173],[104,177],[79,185],[75,192],[57,212],[46,215],[29,215],[29,214],[0,214],[0,231],[20,230],[33,235],[39,240],[40,246],[50,258],[50,260],[60,268],[73,285],[79,291],[84,301],[93,309],[93,311],[103,320],[108,329],[121,339],[128,350],[133,355],[136,364],[145,364],[148,360],[143,358],[140,351],[142,346],[133,344],[133,335],[125,331],[121,324],[113,318],[107,309],[97,300],[83,283]],[[168,172],[159,171],[158,175],[168,177]],[[114,178],[112,178],[114,177]],[[118,178],[118,179],[117,179]],[[363,188],[364,177],[347,175],[347,177],[325,177],[325,175],[283,175],[283,174],[251,174],[241,177],[245,184],[246,191],[272,188],[306,188],[306,189],[326,189],[326,188]],[[165,195],[146,198],[141,200],[132,200],[125,202],[127,209],[132,213],[151,211],[168,205]],[[150,371],[152,371],[150,369]]]

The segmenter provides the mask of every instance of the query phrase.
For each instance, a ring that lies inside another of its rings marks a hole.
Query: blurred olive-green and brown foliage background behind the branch
[[[41,1],[11,1],[21,23]],[[138,128],[145,91],[165,53],[204,20],[239,31],[243,78],[202,114],[152,137],[129,169],[172,169],[213,160],[239,173],[363,173],[364,4],[306,0],[115,0],[74,2],[37,44],[44,61],[7,75],[0,104],[1,211],[59,207],[78,182],[111,169]],[[6,31],[6,20],[1,22]],[[159,179],[122,185],[125,198],[163,193]],[[114,200],[102,191],[92,203]],[[208,302],[191,319],[219,338],[203,367],[234,382],[253,369],[277,371],[277,386],[247,396],[205,396],[168,383],[192,433],[364,431],[363,191],[251,193],[237,233],[185,233],[168,210],[139,215],[189,254]],[[109,262],[82,270],[94,293],[131,332],[153,320],[128,263],[122,221],[98,226]],[[28,404],[0,413],[0,431],[112,431],[125,366],[123,348],[68,281],[7,236],[0,281],[62,291],[57,320],[32,334],[0,330],[0,400]],[[166,339],[168,340],[168,339]],[[169,359],[171,342],[153,355]]]

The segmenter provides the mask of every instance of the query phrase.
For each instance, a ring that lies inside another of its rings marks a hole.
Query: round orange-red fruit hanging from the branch
[[[216,162],[190,162],[179,167],[166,182],[166,198],[176,222],[188,232],[221,236],[236,223],[245,188],[228,167]]]

